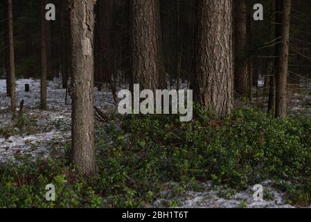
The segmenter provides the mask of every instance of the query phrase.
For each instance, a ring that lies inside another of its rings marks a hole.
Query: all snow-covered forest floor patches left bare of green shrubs
[[[30,85],[30,92],[24,91],[24,85]],[[6,81],[0,80],[0,162],[14,160],[18,155],[46,157],[63,153],[64,144],[71,137],[71,104],[65,104],[66,90],[62,89],[60,78],[48,82],[48,110],[39,110],[39,80],[17,80],[17,102],[24,99],[24,127],[12,123],[10,115],[10,99],[6,96]],[[303,98],[303,99],[302,99]],[[262,99],[262,98],[260,98]],[[114,109],[112,93],[109,87],[103,91],[95,90],[95,103],[103,112]],[[295,94],[291,101],[292,114],[308,112],[311,114],[311,96]],[[202,191],[186,191],[186,194],[174,199],[176,207],[294,207],[286,204],[282,191],[274,188],[274,181],[263,182],[265,194],[269,200],[254,201],[254,191],[249,185],[245,191],[235,194],[224,191],[222,187],[215,189],[211,182],[204,183]],[[163,194],[166,190],[163,190]],[[162,207],[169,199],[157,200],[153,207]],[[310,206],[311,207],[311,206]]]

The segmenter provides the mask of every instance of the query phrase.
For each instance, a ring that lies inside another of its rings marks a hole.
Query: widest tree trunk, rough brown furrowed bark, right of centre
[[[197,1],[194,99],[221,115],[233,110],[232,1]]]

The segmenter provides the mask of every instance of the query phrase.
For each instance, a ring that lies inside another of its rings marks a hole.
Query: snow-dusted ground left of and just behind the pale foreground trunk
[[[30,92],[25,92],[25,84],[30,85]],[[24,99],[24,118],[26,132],[20,132],[14,126],[10,115],[10,98],[6,96],[6,80],[0,80],[0,130],[10,126],[15,135],[0,135],[0,162],[14,159],[16,155],[30,153],[33,157],[46,156],[55,143],[64,144],[70,139],[71,97],[68,96],[65,104],[66,89],[62,89],[62,80],[55,78],[48,81],[47,103],[48,111],[39,110],[40,80],[17,80],[17,105]],[[107,85],[103,91],[94,90],[95,104],[103,108],[112,108],[114,103],[111,90]],[[28,122],[30,121],[30,122]],[[26,134],[26,135],[25,135]],[[29,134],[29,135],[27,135]]]

